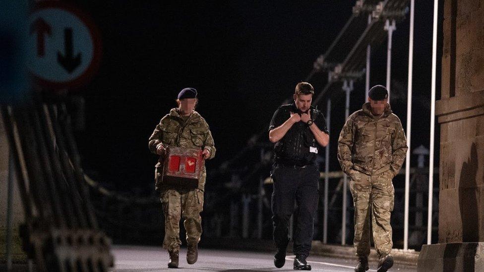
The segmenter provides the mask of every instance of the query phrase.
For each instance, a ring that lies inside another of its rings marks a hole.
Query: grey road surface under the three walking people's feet
[[[113,272],[194,272],[194,271],[221,271],[221,272],[252,272],[274,271],[289,272],[293,270],[294,256],[287,256],[286,265],[277,269],[274,267],[273,254],[268,252],[227,251],[215,249],[199,249],[198,261],[194,265],[186,263],[186,248],[180,252],[180,268],[168,269],[168,253],[161,247],[145,246],[113,246],[115,267]],[[309,256],[308,263],[312,271],[339,272],[354,271],[356,265],[353,260],[334,259],[321,256]],[[376,263],[370,263],[370,272],[376,271]],[[415,269],[393,267],[390,271],[410,272]]]

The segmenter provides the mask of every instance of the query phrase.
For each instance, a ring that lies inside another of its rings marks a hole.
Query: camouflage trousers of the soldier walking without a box
[[[367,257],[370,253],[370,218],[373,240],[378,257],[390,253],[393,247],[390,216],[394,205],[393,174],[389,171],[369,176],[354,170],[350,190],[355,205],[356,254]]]

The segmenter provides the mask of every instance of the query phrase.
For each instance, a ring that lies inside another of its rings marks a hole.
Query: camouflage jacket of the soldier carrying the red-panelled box
[[[159,144],[165,147],[204,148],[210,151],[208,159],[215,157],[216,149],[210,128],[196,111],[193,111],[185,122],[177,109],[171,109],[169,114],[161,118],[148,141],[149,149],[154,154]]]

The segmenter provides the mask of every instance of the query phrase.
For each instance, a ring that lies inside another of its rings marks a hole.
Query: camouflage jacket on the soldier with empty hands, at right
[[[338,161],[343,171],[377,175],[390,170],[395,176],[405,160],[407,138],[402,123],[387,104],[380,116],[369,103],[348,117],[338,139]]]

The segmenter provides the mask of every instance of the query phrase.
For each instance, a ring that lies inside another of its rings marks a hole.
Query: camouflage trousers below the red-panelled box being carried
[[[161,193],[163,213],[165,214],[165,239],[163,248],[167,250],[179,250],[180,219],[183,217],[183,225],[186,230],[186,242],[189,245],[197,244],[202,234],[203,191],[166,189]]]

